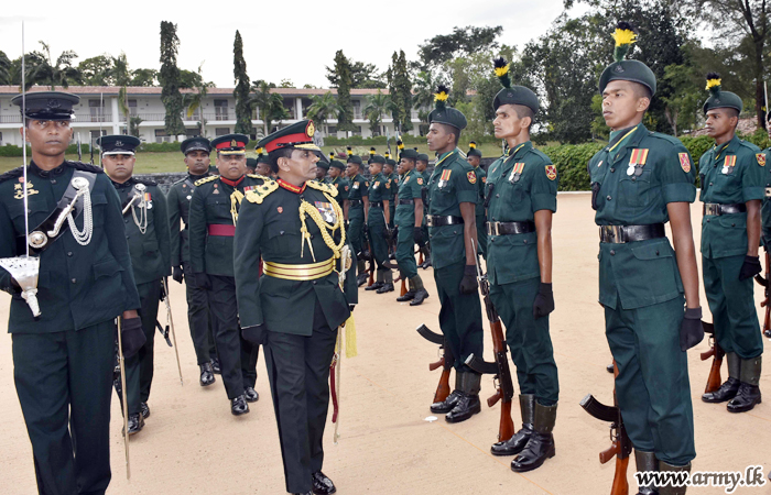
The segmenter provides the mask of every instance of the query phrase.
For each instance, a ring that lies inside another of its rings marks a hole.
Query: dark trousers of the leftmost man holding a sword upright
[[[11,336],[40,494],[104,494],[110,484],[115,334],[109,320],[78,331]]]

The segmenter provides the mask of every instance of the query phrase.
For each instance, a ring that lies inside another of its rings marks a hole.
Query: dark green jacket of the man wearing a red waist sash
[[[256,186],[262,185],[264,177],[247,174],[234,187],[226,184],[220,176],[214,175],[198,180],[191,200],[191,264],[194,273],[208,275],[234,276],[232,271],[232,234],[209,234],[209,226],[234,228],[231,195],[238,189],[241,194]],[[236,207],[238,208],[238,207]]]

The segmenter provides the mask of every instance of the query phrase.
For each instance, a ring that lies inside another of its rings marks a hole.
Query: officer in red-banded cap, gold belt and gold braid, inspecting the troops
[[[312,180],[313,133],[306,120],[260,142],[279,179],[247,193],[235,262],[243,336],[264,343],[286,491],[326,495],[336,491],[322,472],[329,364],[357,285],[337,189]]]

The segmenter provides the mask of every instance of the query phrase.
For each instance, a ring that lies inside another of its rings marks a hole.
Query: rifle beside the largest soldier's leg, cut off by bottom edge
[[[613,360],[613,375],[618,376],[618,366]],[[627,436],[627,428],[623,426],[621,409],[618,407],[616,399],[616,388],[613,388],[613,406],[606,406],[594,398],[591,394],[584,397],[580,402],[580,407],[584,408],[591,417],[610,424],[610,440],[611,446],[608,450],[599,453],[599,463],[605,464],[616,457],[616,473],[613,474],[613,484],[610,488],[610,495],[629,495],[629,483],[627,482],[627,469],[629,468],[629,454],[632,452],[632,442]]]

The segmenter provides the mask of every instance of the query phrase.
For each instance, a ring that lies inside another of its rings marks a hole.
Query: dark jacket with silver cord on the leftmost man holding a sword
[[[8,322],[10,333],[47,333],[79,330],[111,320],[139,308],[139,295],[126,242],[120,200],[101,168],[64,162],[53,170],[28,168],[30,230],[45,220],[64,196],[76,169],[95,173],[90,190],[94,234],[88,245],[79,245],[69,228],[40,256],[37,300],[41,316],[32,318],[26,302],[11,286],[11,276],[0,270],[0,288],[13,295]],[[0,176],[0,257],[23,254],[17,238],[24,235],[24,206],[17,194],[22,168]],[[34,191],[34,193],[33,193]],[[84,216],[75,220],[83,229]],[[23,248],[23,242],[21,242]]]

